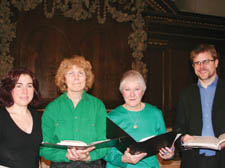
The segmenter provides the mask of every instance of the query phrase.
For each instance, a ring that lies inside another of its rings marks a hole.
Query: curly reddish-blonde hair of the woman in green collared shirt
[[[84,90],[87,91],[92,87],[92,84],[94,82],[94,74],[92,72],[91,63],[87,61],[83,56],[73,55],[72,58],[66,58],[60,63],[55,76],[56,86],[59,87],[61,92],[65,92],[67,90],[67,86],[65,84],[65,75],[74,65],[82,68],[85,72],[86,84]]]

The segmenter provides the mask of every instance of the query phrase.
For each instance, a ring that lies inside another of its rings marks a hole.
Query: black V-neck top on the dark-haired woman
[[[42,141],[41,115],[30,109],[33,128],[22,131],[5,108],[0,108],[0,165],[12,168],[38,168]]]

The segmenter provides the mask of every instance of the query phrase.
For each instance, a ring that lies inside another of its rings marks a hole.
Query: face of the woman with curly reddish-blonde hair
[[[82,93],[86,84],[86,74],[83,68],[72,66],[65,75],[65,83],[67,92],[80,92]]]

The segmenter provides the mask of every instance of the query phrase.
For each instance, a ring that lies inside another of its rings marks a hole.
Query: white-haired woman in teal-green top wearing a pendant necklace
[[[145,137],[159,135],[166,132],[162,112],[148,103],[142,102],[146,84],[142,75],[130,70],[123,75],[120,82],[120,92],[125,103],[108,114],[114,123],[132,136],[136,141]],[[121,153],[111,148],[106,155],[106,168],[159,168],[157,157],[145,157],[146,153],[132,155],[129,148]],[[160,150],[163,159],[174,155],[172,149],[166,147]]]

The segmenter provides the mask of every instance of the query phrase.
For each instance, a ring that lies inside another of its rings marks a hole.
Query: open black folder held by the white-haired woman
[[[147,156],[152,156],[157,154],[163,147],[171,147],[176,140],[177,132],[170,131],[149,137],[142,142],[137,142],[117,124],[107,118],[107,138],[114,139],[119,137],[123,137],[123,139],[116,145],[116,148],[122,153],[129,147],[132,154],[146,152]]]

